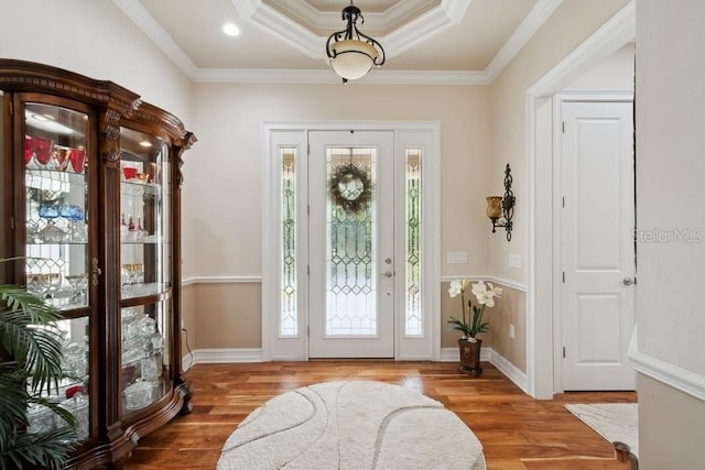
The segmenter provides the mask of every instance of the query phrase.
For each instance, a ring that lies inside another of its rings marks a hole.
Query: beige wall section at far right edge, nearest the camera
[[[703,466],[703,18],[705,2],[696,0],[639,0],[637,8],[638,357],[650,365],[644,373],[674,374],[699,390],[691,396],[669,379],[639,378],[646,470]]]

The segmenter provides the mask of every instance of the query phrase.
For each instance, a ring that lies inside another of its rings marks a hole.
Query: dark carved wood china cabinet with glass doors
[[[68,468],[119,468],[191,412],[182,376],[182,122],[111,81],[0,59],[3,283],[61,309]],[[59,424],[30,409],[29,431]]]

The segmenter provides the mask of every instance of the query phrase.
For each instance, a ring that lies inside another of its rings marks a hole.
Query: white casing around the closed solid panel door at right
[[[552,116],[553,116],[553,391],[554,393],[564,392],[563,387],[563,348],[565,345],[563,340],[563,314],[561,306],[563,305],[563,280],[561,273],[563,272],[563,243],[562,240],[562,226],[563,226],[563,210],[562,207],[562,194],[563,194],[563,172],[562,172],[562,157],[563,157],[563,116],[562,109],[564,102],[575,101],[590,101],[590,102],[631,102],[633,103],[633,92],[629,90],[615,91],[615,92],[560,92],[553,96],[552,100]],[[633,176],[632,176],[633,178]],[[636,189],[634,189],[636,190]],[[634,208],[636,216],[636,208]],[[634,276],[636,276],[636,267]],[[626,356],[626,351],[625,351]]]

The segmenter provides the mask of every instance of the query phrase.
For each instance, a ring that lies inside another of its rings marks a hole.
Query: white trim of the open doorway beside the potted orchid
[[[636,39],[636,1],[593,33],[527,90],[527,392],[552,398],[554,386],[554,215],[552,97]]]

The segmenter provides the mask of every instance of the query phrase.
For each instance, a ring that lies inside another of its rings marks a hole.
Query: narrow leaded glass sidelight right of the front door
[[[423,335],[421,303],[421,149],[406,149],[406,315],[404,329],[408,336]]]

